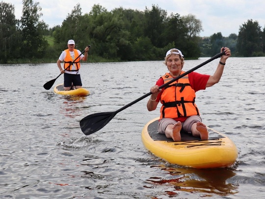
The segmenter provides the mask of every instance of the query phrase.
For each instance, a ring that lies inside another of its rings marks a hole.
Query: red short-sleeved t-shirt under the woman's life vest
[[[205,90],[206,84],[207,84],[209,78],[210,78],[210,75],[204,75],[204,74],[200,74],[197,72],[191,72],[188,74],[189,84],[190,84],[191,88],[193,90],[195,90],[195,92],[197,92],[198,90]],[[177,82],[178,82],[178,80],[177,80]],[[164,84],[164,80],[162,78],[159,78],[156,85],[160,86],[163,84]],[[164,90],[164,88],[162,88],[162,91],[158,94],[158,97],[156,100],[157,102],[160,101],[161,94],[162,94],[163,90]],[[186,120],[186,118],[187,117],[179,117],[178,121],[184,122]]]

